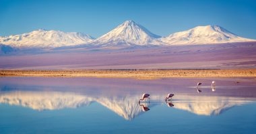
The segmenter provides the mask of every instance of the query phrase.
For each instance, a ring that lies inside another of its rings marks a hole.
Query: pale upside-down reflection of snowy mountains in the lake
[[[154,111],[154,106],[166,102],[165,94],[151,94],[150,103],[141,103],[138,100],[141,94],[126,94],[116,96],[95,96],[90,94],[78,94],[75,92],[53,91],[11,91],[0,94],[0,103],[29,107],[37,111],[57,110],[64,108],[86,107],[91,103],[100,105],[117,113],[126,120],[145,113],[149,109]],[[175,94],[166,107],[189,111],[197,115],[220,115],[224,111],[239,105],[253,102],[251,98],[234,96],[193,96],[188,94]],[[170,104],[169,104],[170,103]]]

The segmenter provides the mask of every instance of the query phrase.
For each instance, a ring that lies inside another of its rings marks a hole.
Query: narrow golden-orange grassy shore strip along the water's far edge
[[[231,78],[256,77],[256,68],[231,70],[0,70],[1,77]]]

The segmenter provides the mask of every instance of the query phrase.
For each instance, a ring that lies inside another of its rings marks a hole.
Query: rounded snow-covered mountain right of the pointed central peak
[[[230,42],[253,42],[247,38],[241,38],[218,25],[197,26],[187,31],[180,31],[166,38],[160,39],[165,44],[222,44]]]

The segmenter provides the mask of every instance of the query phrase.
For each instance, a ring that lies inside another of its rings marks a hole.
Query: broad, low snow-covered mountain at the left
[[[38,29],[30,33],[0,37],[0,44],[16,48],[56,48],[86,44],[94,40],[87,34]]]

